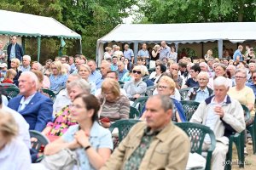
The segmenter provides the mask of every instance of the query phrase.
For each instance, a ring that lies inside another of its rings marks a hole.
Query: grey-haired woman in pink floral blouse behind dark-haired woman
[[[79,94],[90,94],[90,84],[84,79],[70,82],[67,87],[67,94],[73,102],[73,99]],[[42,133],[47,136],[61,136],[63,133],[66,133],[68,127],[77,124],[77,122],[71,118],[70,107],[70,105],[66,105],[61,111],[57,112],[55,114],[55,120],[48,122]]]

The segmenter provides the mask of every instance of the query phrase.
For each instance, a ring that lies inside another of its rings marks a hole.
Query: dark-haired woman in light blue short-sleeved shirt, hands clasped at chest
[[[113,150],[113,141],[110,131],[98,123],[99,109],[99,101],[94,95],[77,96],[73,100],[71,115],[79,124],[69,127],[60,139],[46,145],[44,154],[49,156],[63,149],[74,150],[80,169],[100,169]]]

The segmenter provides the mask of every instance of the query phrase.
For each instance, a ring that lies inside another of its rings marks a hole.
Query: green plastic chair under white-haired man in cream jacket
[[[250,117],[250,111],[248,110],[246,105],[241,105],[243,111],[246,115],[246,120]],[[232,147],[233,143],[236,144],[236,150],[238,155],[238,161],[241,163],[239,164],[239,167],[244,167],[244,145],[245,145],[245,131],[242,131],[241,133],[234,133],[230,135],[230,144],[229,144],[229,151],[226,156],[226,161],[232,162]],[[231,169],[231,164],[227,164],[225,166],[226,170]]]

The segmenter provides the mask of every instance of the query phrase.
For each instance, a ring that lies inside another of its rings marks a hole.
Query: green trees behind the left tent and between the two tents
[[[96,56],[96,40],[122,23],[129,15],[128,9],[137,0],[2,0],[0,8],[27,14],[53,17],[82,36],[83,54]],[[65,40],[62,54],[79,53],[79,41]],[[58,38],[42,38],[41,56],[54,58],[61,42]],[[26,54],[37,58],[37,39],[26,38]]]

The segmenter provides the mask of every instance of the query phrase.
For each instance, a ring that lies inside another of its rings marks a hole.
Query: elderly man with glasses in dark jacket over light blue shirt
[[[207,83],[209,82],[209,74],[207,72],[201,71],[197,75],[197,82],[199,83],[199,87],[189,90],[187,100],[201,102],[212,95],[212,89],[207,87]]]

